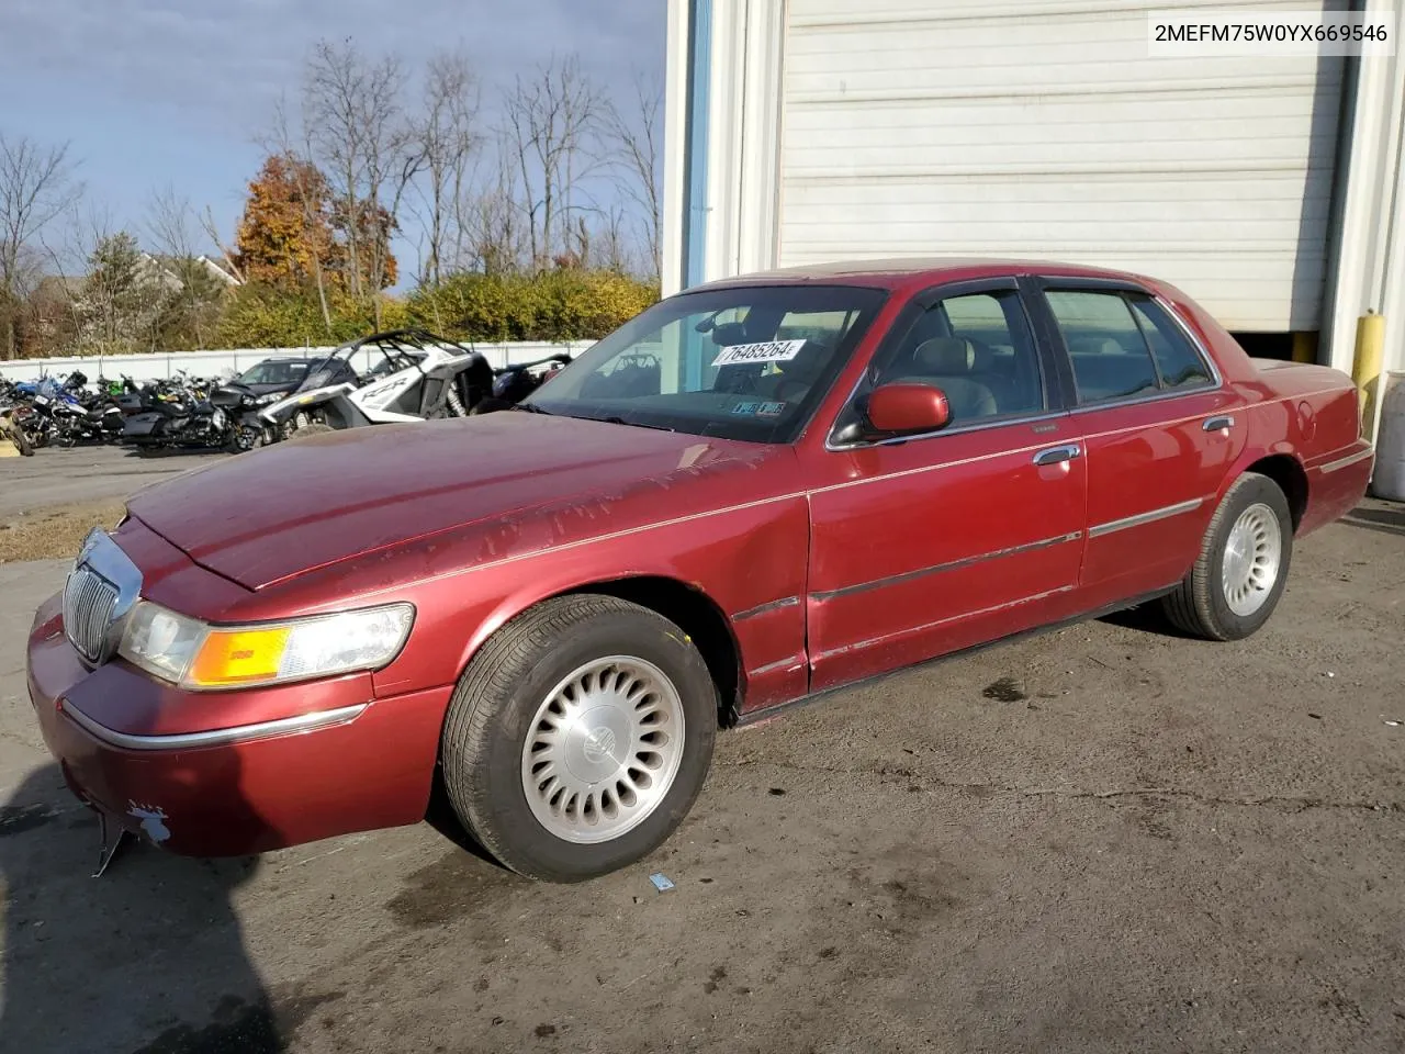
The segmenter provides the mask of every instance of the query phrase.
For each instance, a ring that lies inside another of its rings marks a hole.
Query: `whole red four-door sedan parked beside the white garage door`
[[[524,405],[149,489],[28,645],[73,791],[171,850],[413,824],[649,853],[719,727],[1159,599],[1255,632],[1361,497],[1356,389],[1149,278],[806,268],[665,299]]]

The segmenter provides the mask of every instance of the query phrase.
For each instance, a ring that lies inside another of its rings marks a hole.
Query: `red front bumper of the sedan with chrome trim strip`
[[[30,700],[73,793],[187,856],[242,856],[419,822],[451,689],[375,698],[370,675],[188,693],[90,670],[59,599],[28,642]]]

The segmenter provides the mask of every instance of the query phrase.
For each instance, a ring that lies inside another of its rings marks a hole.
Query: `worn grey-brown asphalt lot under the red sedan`
[[[430,825],[89,878],[22,677],[63,568],[0,566],[3,1054],[1405,1048],[1405,506],[1250,641],[1121,616],[725,734],[577,887]]]

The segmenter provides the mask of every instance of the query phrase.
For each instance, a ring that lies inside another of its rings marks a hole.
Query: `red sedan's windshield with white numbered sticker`
[[[527,405],[697,436],[790,443],[887,298],[756,285],[662,301],[544,384]]]

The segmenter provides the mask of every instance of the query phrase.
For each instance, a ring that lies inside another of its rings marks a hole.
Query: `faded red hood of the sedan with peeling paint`
[[[128,509],[197,564],[263,589],[437,531],[643,481],[666,485],[700,465],[740,468],[773,450],[493,413],[280,443],[150,486]]]

